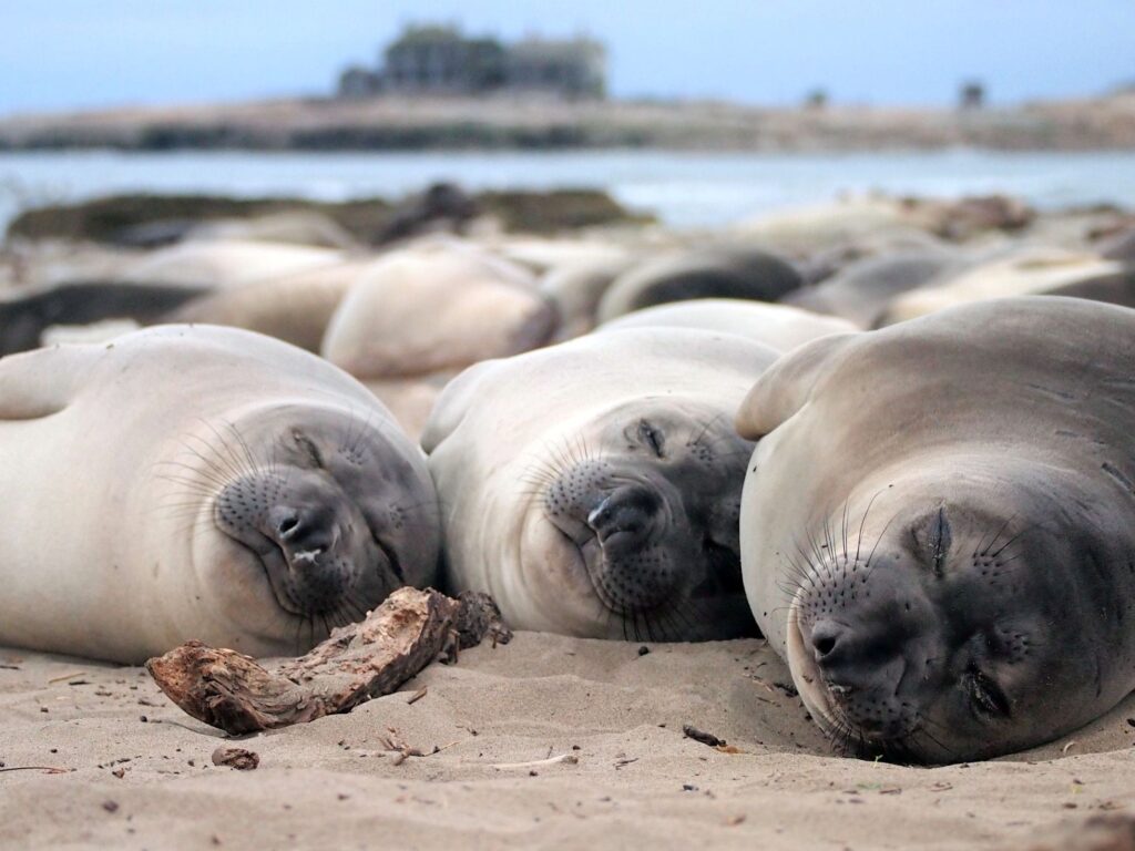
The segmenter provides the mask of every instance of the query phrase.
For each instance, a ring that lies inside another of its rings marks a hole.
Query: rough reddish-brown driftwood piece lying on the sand
[[[451,599],[402,588],[367,620],[331,632],[306,656],[266,668],[235,650],[188,641],[146,662],[146,671],[177,706],[227,733],[252,733],[346,713],[389,694],[442,654],[494,644],[512,633],[488,595]]]

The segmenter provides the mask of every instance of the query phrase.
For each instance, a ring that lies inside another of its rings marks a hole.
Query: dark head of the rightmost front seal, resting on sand
[[[1066,506],[1082,508],[1085,492],[1041,465],[950,470],[858,490],[782,554],[792,679],[819,725],[861,756],[994,756],[1123,697],[1111,685],[1120,657],[1104,649],[1123,643],[1128,604],[1101,581],[1117,554],[1083,517],[1070,522]]]

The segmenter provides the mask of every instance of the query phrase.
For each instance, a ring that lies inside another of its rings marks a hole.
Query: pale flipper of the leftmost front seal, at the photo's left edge
[[[0,421],[36,420],[67,407],[90,369],[91,348],[52,346],[0,357]]]

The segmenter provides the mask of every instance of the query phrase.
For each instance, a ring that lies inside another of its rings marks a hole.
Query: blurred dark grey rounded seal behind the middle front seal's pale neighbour
[[[722,246],[639,263],[620,275],[599,300],[600,323],[623,313],[688,298],[776,302],[804,283],[787,262],[765,251]]]

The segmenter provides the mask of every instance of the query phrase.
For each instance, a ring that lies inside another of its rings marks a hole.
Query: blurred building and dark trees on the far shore
[[[409,26],[382,51],[381,66],[351,66],[338,82],[340,98],[498,91],[602,98],[606,50],[586,37],[529,37],[508,45],[466,37],[455,26]]]

